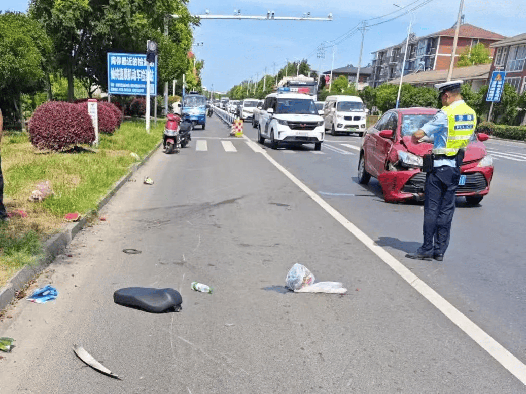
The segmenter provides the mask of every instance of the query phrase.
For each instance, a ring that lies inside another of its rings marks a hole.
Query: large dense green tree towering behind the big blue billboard
[[[68,79],[68,99],[73,100],[73,80],[85,80],[107,89],[106,53],[144,53],[146,40],[159,44],[159,79],[175,79],[186,70],[191,46],[187,0],[32,0],[30,14],[55,44],[57,66]],[[178,14],[179,19],[166,20]],[[164,37],[165,23],[168,37]]]

